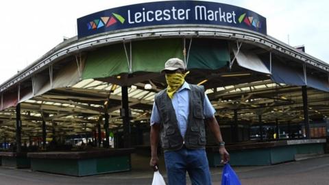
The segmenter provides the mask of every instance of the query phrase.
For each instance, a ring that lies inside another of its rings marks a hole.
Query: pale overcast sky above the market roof
[[[142,0],[0,1],[0,84],[36,61],[63,37],[77,35],[77,18]],[[267,18],[267,34],[329,63],[327,0],[212,0],[252,10]]]

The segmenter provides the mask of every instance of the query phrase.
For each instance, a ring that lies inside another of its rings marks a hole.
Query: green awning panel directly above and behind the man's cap
[[[132,42],[132,71],[160,72],[169,58],[184,59],[182,38]]]

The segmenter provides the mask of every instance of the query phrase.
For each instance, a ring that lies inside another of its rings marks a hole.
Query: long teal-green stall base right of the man
[[[326,140],[289,140],[228,146],[232,166],[263,166],[295,160],[296,154],[324,153]],[[210,167],[221,166],[218,147],[207,149]]]

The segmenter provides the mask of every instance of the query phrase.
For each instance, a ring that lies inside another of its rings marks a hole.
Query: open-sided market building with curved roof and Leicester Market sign
[[[231,164],[326,151],[329,64],[268,36],[256,12],[160,1],[77,18],[77,29],[1,84],[3,165],[77,176],[129,170],[130,153],[149,155],[154,95],[166,88],[160,70],[173,57],[184,60],[187,82],[205,86]]]

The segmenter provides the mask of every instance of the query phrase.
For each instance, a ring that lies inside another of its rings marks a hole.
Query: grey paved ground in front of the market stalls
[[[147,167],[149,158],[132,156],[132,171],[86,177],[71,177],[0,167],[0,185],[90,185],[151,184],[153,172]],[[163,162],[163,161],[162,161]],[[146,164],[145,164],[146,163]],[[161,162],[160,162],[161,163]],[[262,167],[233,167],[243,185],[329,184],[329,156],[318,156],[295,162]],[[212,184],[221,184],[221,167],[211,168]],[[160,173],[167,180],[164,167]],[[188,176],[186,176],[188,180]],[[191,184],[188,181],[188,184]]]

